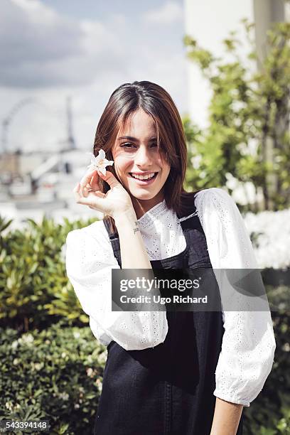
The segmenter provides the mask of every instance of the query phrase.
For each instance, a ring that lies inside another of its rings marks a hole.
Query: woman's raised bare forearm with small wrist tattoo
[[[114,216],[119,233],[122,269],[152,269],[134,209]]]

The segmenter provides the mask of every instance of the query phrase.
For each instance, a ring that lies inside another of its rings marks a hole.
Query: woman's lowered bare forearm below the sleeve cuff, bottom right
[[[215,414],[210,435],[236,435],[243,406],[215,399]]]

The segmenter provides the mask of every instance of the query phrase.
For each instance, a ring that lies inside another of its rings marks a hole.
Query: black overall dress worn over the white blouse
[[[152,269],[210,267],[213,273],[198,216],[179,225],[186,249],[151,261]],[[119,238],[109,237],[121,267]],[[109,343],[94,435],[210,435],[222,313],[166,311],[166,318],[166,339],[155,348],[124,350]],[[237,434],[242,434],[242,418]]]

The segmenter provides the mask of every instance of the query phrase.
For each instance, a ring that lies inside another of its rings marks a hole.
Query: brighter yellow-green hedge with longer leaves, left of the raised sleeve
[[[95,220],[95,219],[94,219]],[[87,325],[87,316],[65,273],[62,247],[70,230],[89,225],[63,220],[31,219],[22,230],[9,231],[0,218],[0,326],[28,331],[67,321]]]

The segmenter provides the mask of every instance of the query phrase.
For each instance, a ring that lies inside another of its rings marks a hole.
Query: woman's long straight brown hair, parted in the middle
[[[97,125],[94,154],[97,156],[100,149],[103,149],[107,159],[113,159],[112,148],[118,131],[138,109],[143,109],[154,119],[161,154],[171,166],[163,186],[166,205],[178,215],[186,215],[193,208],[194,196],[194,193],[188,193],[183,189],[187,163],[186,137],[178,109],[163,87],[148,81],[119,86],[109,97]],[[119,179],[114,166],[109,166],[107,170],[112,171]],[[102,192],[107,193],[109,185],[100,179],[100,188]],[[104,219],[108,220],[111,231],[117,232],[114,219],[107,215]]]

